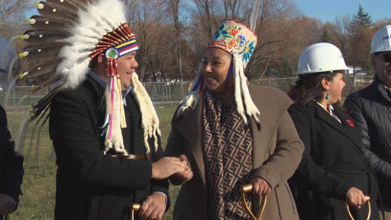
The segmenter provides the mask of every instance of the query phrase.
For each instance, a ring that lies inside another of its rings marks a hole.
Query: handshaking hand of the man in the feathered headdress
[[[152,163],[152,179],[165,179],[170,175],[188,169],[186,163],[177,157],[163,157]]]

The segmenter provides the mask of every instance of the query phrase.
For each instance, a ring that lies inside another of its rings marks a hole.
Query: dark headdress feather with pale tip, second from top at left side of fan
[[[36,30],[64,31],[64,27],[71,25],[71,21],[34,15],[27,20]]]

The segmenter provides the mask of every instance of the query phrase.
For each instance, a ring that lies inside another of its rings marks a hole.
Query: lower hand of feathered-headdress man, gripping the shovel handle
[[[165,196],[161,193],[153,193],[145,198],[140,209],[138,209],[138,216],[141,220],[160,220],[165,211]]]

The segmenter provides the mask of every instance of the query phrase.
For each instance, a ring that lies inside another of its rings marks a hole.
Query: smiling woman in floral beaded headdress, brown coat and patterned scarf
[[[288,96],[244,75],[256,45],[250,28],[223,20],[174,113],[165,154],[185,154],[179,158],[193,173],[170,177],[182,184],[173,219],[249,219],[239,189],[247,183],[253,212],[267,194],[265,219],[298,219],[287,179],[304,147],[287,112]]]

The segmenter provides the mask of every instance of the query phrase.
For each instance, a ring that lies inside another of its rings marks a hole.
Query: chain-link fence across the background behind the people
[[[270,86],[281,89],[287,92],[288,89],[295,85],[297,77],[289,78],[269,78],[252,80],[255,85]],[[345,76],[344,81],[346,86],[342,92],[343,96],[347,96],[351,92],[364,88],[373,81],[373,76]],[[191,89],[190,81],[183,82],[146,82],[143,83],[152,102],[179,102],[183,96]],[[50,91],[50,88],[45,88],[37,93],[26,96],[35,87],[32,86],[16,86],[13,92],[0,95],[0,101],[3,106],[7,106],[7,111],[13,111],[15,107],[18,109],[26,109],[44,97]]]

